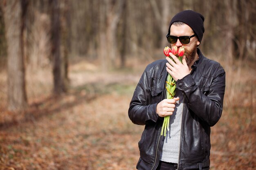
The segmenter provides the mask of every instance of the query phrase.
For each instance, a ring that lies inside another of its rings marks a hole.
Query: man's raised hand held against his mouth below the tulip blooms
[[[170,53],[170,56],[173,58],[174,61],[171,60],[171,58],[166,57],[166,60],[169,62],[169,63],[166,63],[166,66],[167,66],[166,70],[173,77],[173,79],[177,81],[178,79],[182,79],[183,77],[188,75],[189,67],[186,64],[186,56],[185,55],[183,56],[182,63],[172,53]]]

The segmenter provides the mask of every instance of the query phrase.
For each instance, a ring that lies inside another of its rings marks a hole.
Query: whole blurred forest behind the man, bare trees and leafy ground
[[[255,169],[255,0],[0,0],[0,170],[135,169],[129,102],[186,9],[226,71],[211,170]]]

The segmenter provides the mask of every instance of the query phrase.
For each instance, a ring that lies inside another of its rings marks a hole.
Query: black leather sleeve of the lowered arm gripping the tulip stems
[[[145,70],[135,88],[128,110],[129,118],[134,124],[145,125],[149,120],[157,121],[157,103],[149,104],[151,97],[149,78]]]

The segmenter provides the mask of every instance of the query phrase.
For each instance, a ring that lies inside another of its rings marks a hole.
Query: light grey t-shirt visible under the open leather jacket
[[[170,116],[169,131],[166,132],[164,139],[161,161],[178,163],[180,154],[180,135],[182,114],[184,106],[184,94],[176,88],[175,97],[180,97],[175,104],[173,115]]]

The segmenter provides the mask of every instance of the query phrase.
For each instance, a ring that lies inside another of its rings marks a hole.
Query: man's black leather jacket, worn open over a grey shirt
[[[176,88],[184,94],[179,170],[209,169],[210,127],[222,113],[225,71],[198,49],[199,60],[186,77],[177,80]],[[139,170],[155,170],[162,152],[163,120],[156,114],[157,104],[166,98],[166,60],[149,64],[135,89],[128,115],[134,124],[145,125],[139,141]]]

